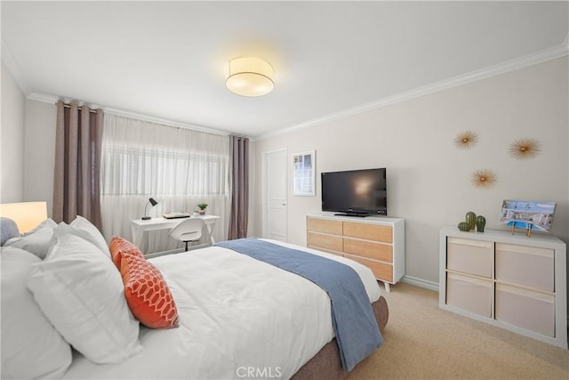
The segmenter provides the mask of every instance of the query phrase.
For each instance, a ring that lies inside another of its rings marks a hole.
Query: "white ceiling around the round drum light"
[[[24,93],[262,137],[495,65],[567,50],[568,2],[9,2]],[[225,87],[257,56],[275,90]]]

